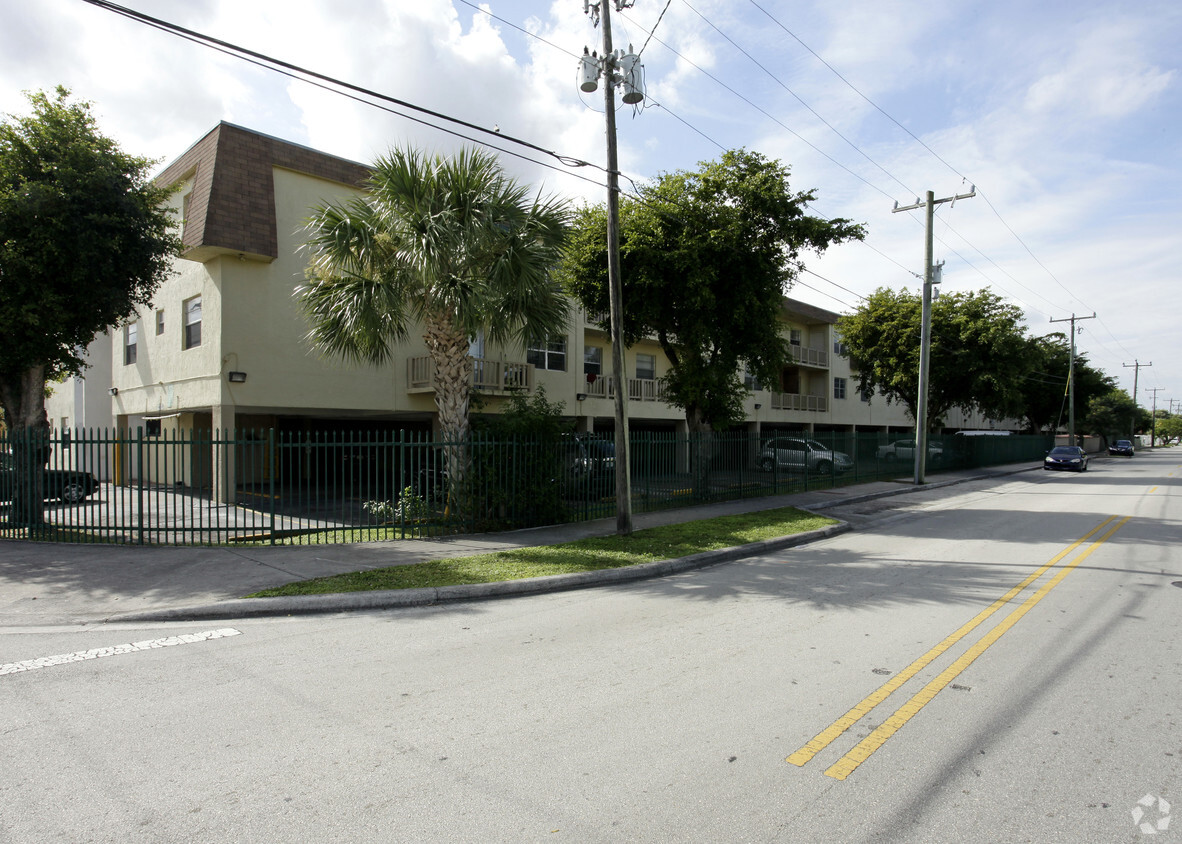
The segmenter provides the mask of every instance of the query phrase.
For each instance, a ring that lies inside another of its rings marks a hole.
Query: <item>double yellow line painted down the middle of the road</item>
[[[935,645],[927,654],[921,656],[918,660],[913,662],[910,666],[904,668],[902,671],[896,674],[889,681],[879,686],[875,692],[866,695],[860,702],[858,702],[852,709],[837,719],[833,723],[826,727],[824,731],[818,733],[812,741],[806,744],[799,751],[788,757],[787,761],[793,765],[803,766],[808,762],[813,757],[820,753],[823,749],[829,747],[836,739],[838,739],[842,733],[847,731],[855,723],[857,723],[864,715],[866,715],[871,709],[882,703],[886,697],[895,692],[897,688],[903,686],[908,680],[914,677],[916,674],[922,671],[926,667],[931,664],[941,654],[947,651],[954,644],[960,642],[965,636],[970,634],[978,626],[980,626],[989,616],[1000,610],[1007,603],[1009,603],[1014,597],[1017,597],[1022,590],[1030,586],[1034,580],[1040,578],[1046,573],[1048,569],[1054,566],[1057,563],[1063,560],[1073,553],[1080,545],[1086,543],[1089,539],[1095,537],[1097,533],[1103,531],[1105,527],[1111,525],[1111,528],[1104,533],[1103,537],[1095,540],[1079,557],[1063,566],[1058,574],[1056,574],[1051,580],[1048,580],[1041,589],[1030,596],[1022,604],[1006,616],[993,630],[986,634],[976,644],[969,648],[960,658],[957,658],[953,664],[946,668],[940,675],[924,686],[920,692],[911,696],[911,699],[900,707],[894,715],[886,719],[881,726],[878,726],[873,732],[866,738],[857,744],[853,749],[846,753],[844,757],[838,759],[833,765],[825,771],[826,777],[832,777],[833,779],[845,779],[853,771],[862,765],[870,754],[877,751],[883,744],[886,742],[895,733],[897,733],[904,723],[911,720],[916,713],[920,712],[924,706],[931,701],[948,683],[956,679],[956,676],[968,668],[976,657],[983,654],[989,645],[996,642],[1001,636],[1009,630],[1018,621],[1025,616],[1031,609],[1034,608],[1038,602],[1046,597],[1047,592],[1058,586],[1063,579],[1071,573],[1071,571],[1083,563],[1091,553],[1108,541],[1113,533],[1121,530],[1131,517],[1125,517],[1117,521],[1117,517],[1111,515],[1095,528],[1085,533],[1078,540],[1069,545],[1066,548],[1052,557],[1047,563],[1035,569],[1031,574],[1019,583],[1017,586],[1011,589],[1008,592],[1002,595],[1000,598],[994,600],[987,608],[981,610],[970,621],[961,625],[955,632],[944,638],[940,644]],[[1116,521],[1115,525],[1112,522]]]

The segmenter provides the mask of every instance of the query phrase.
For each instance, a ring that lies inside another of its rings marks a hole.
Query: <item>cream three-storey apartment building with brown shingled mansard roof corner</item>
[[[437,424],[431,362],[421,339],[385,366],[326,358],[305,340],[293,298],[306,257],[310,208],[361,193],[365,165],[221,123],[158,176],[178,186],[183,255],[150,307],[95,340],[93,365],[48,401],[56,427],[167,431],[323,431]],[[626,304],[625,304],[626,306]],[[863,401],[834,331],[838,314],[785,299],[792,363],[780,383],[754,384],[747,428],[879,430],[911,428],[903,409]],[[473,339],[473,387],[495,413],[509,389],[545,387],[579,430],[613,427],[613,390],[626,384],[630,426],[684,431],[663,401],[668,362],[655,342],[625,350],[611,371],[606,333],[580,309],[563,337],[538,349]],[[950,420],[954,427],[987,427]]]

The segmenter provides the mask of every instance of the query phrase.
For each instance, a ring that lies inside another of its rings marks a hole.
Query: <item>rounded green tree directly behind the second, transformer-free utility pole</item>
[[[918,413],[922,310],[918,293],[879,287],[838,320],[858,389],[902,402],[913,420]],[[995,293],[946,293],[933,301],[929,427],[941,424],[953,408],[994,418],[1020,416],[1028,349],[1021,310]]]

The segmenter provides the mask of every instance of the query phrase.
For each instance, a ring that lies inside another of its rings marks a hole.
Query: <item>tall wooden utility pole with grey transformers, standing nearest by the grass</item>
[[[587,54],[580,60],[582,84],[590,93],[603,76],[604,116],[608,135],[608,296],[611,306],[611,368],[616,379],[616,533],[632,532],[632,473],[628,447],[628,372],[624,369],[624,297],[619,279],[619,164],[616,155],[616,85],[624,90],[623,100],[634,105],[644,99],[639,85],[639,58],[629,51],[616,53],[611,44],[611,6],[629,8],[635,0],[583,0],[584,14],[593,24],[603,21],[603,58]]]

